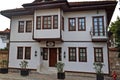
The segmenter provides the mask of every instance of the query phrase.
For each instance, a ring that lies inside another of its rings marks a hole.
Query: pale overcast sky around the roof
[[[22,4],[31,3],[34,0],[0,0],[0,11],[7,9],[15,9],[22,7]],[[95,1],[95,0],[68,0],[69,2],[78,2],[78,1]],[[120,6],[120,4],[119,4]],[[118,7],[118,6],[117,6]],[[118,12],[118,8],[116,8],[115,16],[113,21],[116,20],[116,16],[120,14]],[[10,28],[10,19],[0,15],[0,31],[5,30],[6,28]]]

